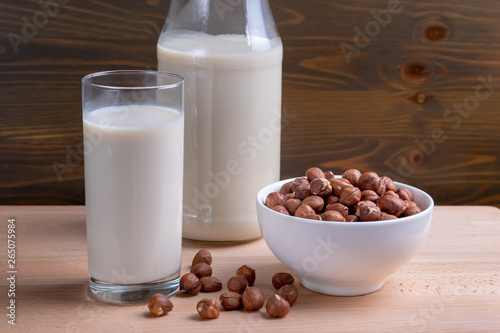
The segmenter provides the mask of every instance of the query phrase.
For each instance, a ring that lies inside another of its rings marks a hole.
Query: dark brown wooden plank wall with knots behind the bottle
[[[500,2],[270,2],[282,178],[356,167],[500,206]],[[0,2],[0,204],[83,204],[80,79],[156,68],[169,1],[41,3]]]

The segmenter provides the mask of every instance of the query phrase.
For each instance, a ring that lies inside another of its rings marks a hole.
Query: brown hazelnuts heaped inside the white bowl
[[[270,193],[265,205],[286,215],[336,222],[393,220],[422,211],[412,193],[396,188],[387,176],[349,169],[335,178],[317,167]]]

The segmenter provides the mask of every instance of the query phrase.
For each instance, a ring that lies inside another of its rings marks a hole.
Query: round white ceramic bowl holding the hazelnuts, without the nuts
[[[338,296],[374,292],[384,279],[409,262],[429,232],[434,201],[401,183],[422,212],[376,222],[315,221],[278,213],[264,205],[267,195],[292,179],[273,183],[257,194],[257,216],[267,246],[310,290]]]

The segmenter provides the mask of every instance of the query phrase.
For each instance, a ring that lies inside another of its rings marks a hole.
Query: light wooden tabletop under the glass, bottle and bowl
[[[12,268],[5,245],[9,225],[15,226],[16,235]],[[382,289],[364,296],[334,297],[296,282],[297,303],[281,319],[269,318],[265,309],[222,311],[218,319],[201,319],[195,308],[198,300],[218,299],[225,288],[172,296],[173,311],[159,318],[151,317],[145,304],[97,301],[88,288],[83,206],[0,206],[0,244],[2,273],[15,277],[15,281],[0,280],[2,332],[500,331],[500,210],[494,207],[437,206],[424,248]],[[253,266],[255,284],[266,298],[274,290],[272,275],[288,271],[259,239],[238,245],[184,241],[182,273],[202,247],[212,252],[213,275],[224,286],[242,264]],[[9,293],[12,288],[15,296]],[[11,300],[15,300],[15,326],[8,323]]]

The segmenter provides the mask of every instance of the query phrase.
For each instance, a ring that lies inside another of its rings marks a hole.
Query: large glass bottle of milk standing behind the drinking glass
[[[185,79],[183,236],[261,236],[258,190],[280,176],[283,47],[267,0],[173,0],[158,69]]]

